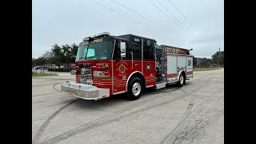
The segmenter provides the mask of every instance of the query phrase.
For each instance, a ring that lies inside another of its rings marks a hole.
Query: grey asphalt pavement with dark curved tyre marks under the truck
[[[224,69],[186,86],[86,101],[61,93],[74,75],[32,78],[33,143],[224,143]]]

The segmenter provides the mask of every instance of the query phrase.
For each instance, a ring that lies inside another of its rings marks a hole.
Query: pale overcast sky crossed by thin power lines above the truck
[[[153,38],[211,58],[224,50],[224,1],[32,0],[32,58],[102,32]]]

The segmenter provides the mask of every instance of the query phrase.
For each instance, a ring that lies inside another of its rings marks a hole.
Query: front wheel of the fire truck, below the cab
[[[127,93],[128,98],[131,101],[141,98],[141,94],[143,91],[143,85],[142,85],[141,79],[138,77],[132,78],[128,84],[127,90],[128,90],[128,93]]]

